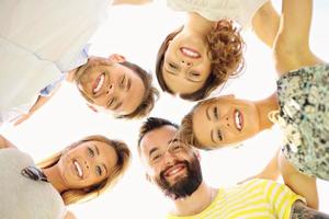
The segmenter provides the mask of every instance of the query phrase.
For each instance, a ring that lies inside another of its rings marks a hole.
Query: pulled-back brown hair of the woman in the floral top
[[[215,148],[211,148],[211,147],[205,147],[203,146],[194,136],[193,132],[193,114],[196,111],[196,108],[198,106],[201,106],[202,104],[207,104],[207,103],[212,103],[216,100],[216,97],[212,97],[212,99],[207,99],[204,101],[200,101],[196,105],[193,106],[193,108],[183,117],[182,122],[181,122],[181,126],[179,128],[179,137],[180,139],[188,143],[191,145],[195,148],[198,149],[203,149],[203,150],[213,150]]]

